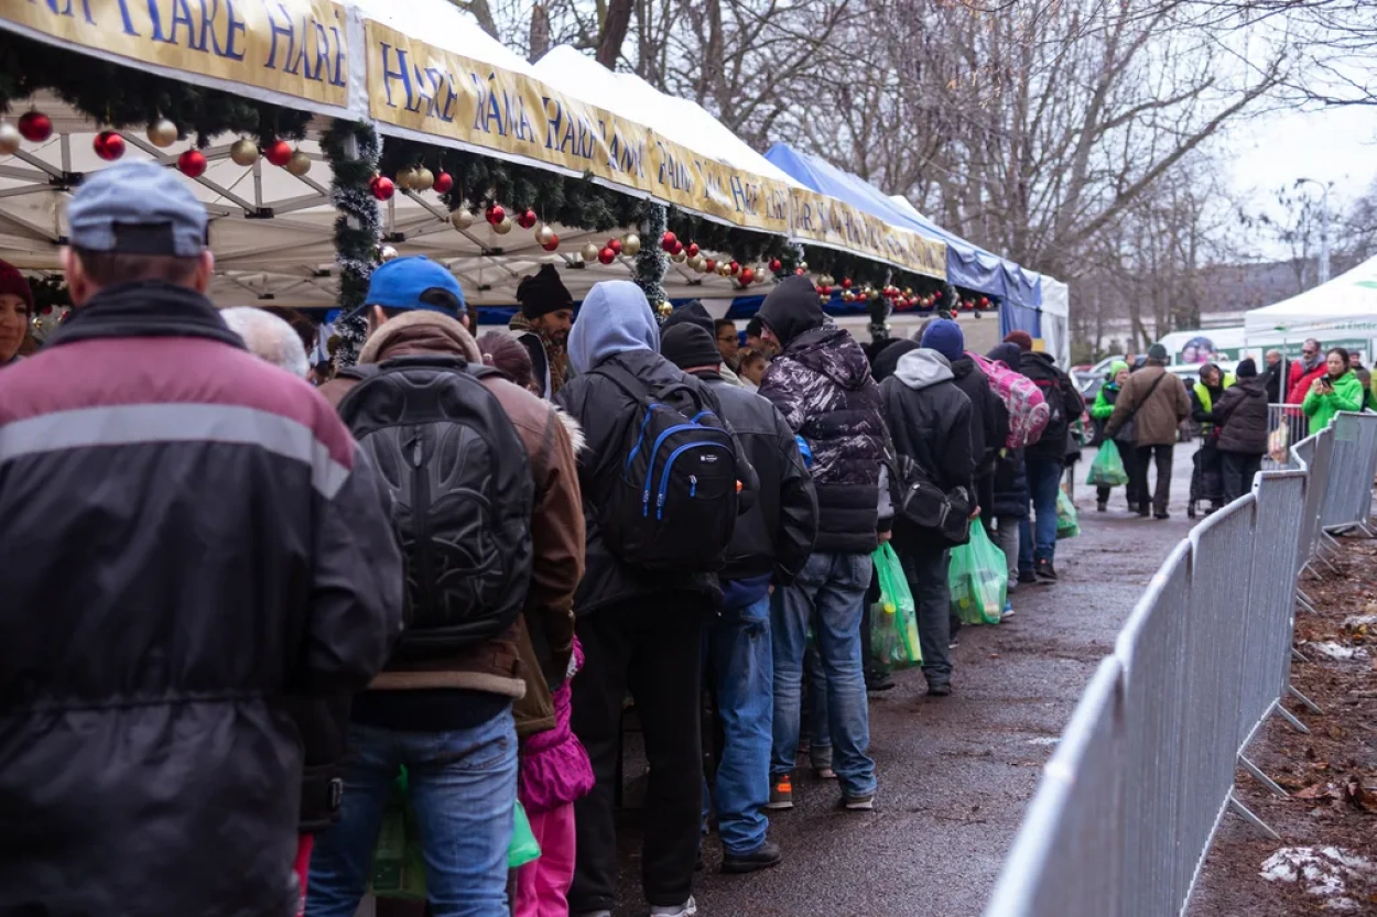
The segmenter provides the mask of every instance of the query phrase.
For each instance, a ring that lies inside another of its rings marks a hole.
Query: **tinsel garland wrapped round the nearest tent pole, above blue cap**
[[[351,150],[357,146],[355,150]],[[381,218],[377,198],[369,183],[377,173],[379,142],[373,125],[336,118],[321,138],[321,150],[330,165],[330,202],[339,211],[335,219],[335,263],[340,268],[340,310],[348,313],[364,306],[368,280],[377,266],[377,241]],[[351,156],[353,153],[353,156]],[[368,325],[362,315],[340,319],[336,325],[339,346],[336,366],[353,366],[364,346]]]

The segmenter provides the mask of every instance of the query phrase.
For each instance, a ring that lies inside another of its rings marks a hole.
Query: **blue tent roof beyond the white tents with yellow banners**
[[[843,172],[826,160],[799,153],[785,143],[770,147],[766,158],[814,191],[845,201],[892,226],[912,229],[928,238],[946,242],[947,280],[952,284],[998,296],[1015,306],[1036,308],[1042,304],[1041,275],[1026,271],[1013,262],[972,245],[936,223],[898,207],[884,191],[859,176]]]

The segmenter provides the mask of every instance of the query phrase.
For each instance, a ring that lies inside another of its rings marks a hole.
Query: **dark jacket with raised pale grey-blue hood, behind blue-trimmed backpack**
[[[578,318],[569,332],[569,357],[578,375],[555,399],[584,427],[588,449],[578,457],[582,483],[584,516],[588,530],[588,570],[574,596],[574,613],[587,615],[613,604],[644,604],[666,592],[704,599],[706,607],[722,606],[722,587],[712,573],[646,571],[622,563],[609,551],[598,527],[598,507],[607,486],[603,470],[622,454],[631,424],[640,406],[622,388],[602,373],[602,365],[617,366],[636,377],[646,390],[683,384],[698,391],[700,398],[723,417],[717,397],[706,383],[687,376],[660,355],[660,329],[646,295],[631,281],[605,281],[584,299]],[[739,508],[748,509],[756,493],[755,472],[737,445],[737,470],[745,475]]]

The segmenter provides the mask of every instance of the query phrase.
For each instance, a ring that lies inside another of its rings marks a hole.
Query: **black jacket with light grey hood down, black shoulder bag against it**
[[[912,458],[936,486],[947,492],[965,487],[974,501],[974,412],[946,357],[928,348],[905,354],[880,391],[884,417],[894,431],[894,450]],[[902,516],[895,522],[894,538],[901,548],[952,547],[934,531],[909,526]]]

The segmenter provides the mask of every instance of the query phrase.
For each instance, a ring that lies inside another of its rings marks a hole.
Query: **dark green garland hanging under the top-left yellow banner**
[[[190,85],[6,33],[0,43],[0,110],[40,89],[105,127],[128,129],[171,118],[197,146],[233,132],[260,143],[306,136],[311,116],[230,92]]]

